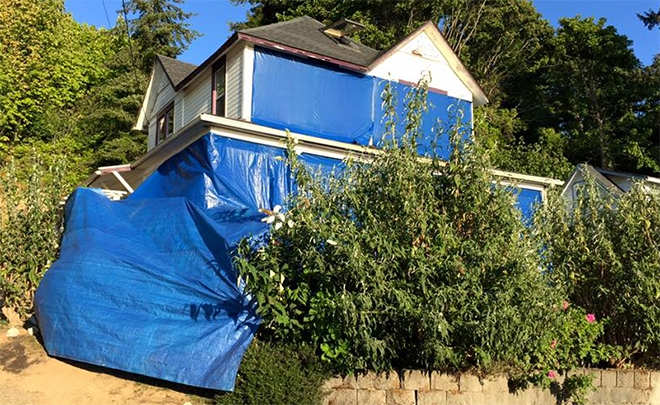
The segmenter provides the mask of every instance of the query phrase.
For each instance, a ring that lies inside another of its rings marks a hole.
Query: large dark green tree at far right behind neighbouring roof
[[[551,127],[567,139],[574,163],[609,169],[658,169],[640,136],[641,64],[632,42],[605,20],[564,18],[544,71],[544,104]]]

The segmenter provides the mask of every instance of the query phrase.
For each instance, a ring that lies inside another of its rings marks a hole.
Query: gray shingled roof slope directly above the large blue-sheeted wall
[[[359,66],[369,66],[379,56],[379,51],[359,42],[348,39],[350,44],[341,43],[323,33],[324,27],[323,23],[303,16],[239,32]]]

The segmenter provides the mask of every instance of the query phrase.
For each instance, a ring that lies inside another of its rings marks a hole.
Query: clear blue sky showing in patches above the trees
[[[633,41],[635,54],[644,65],[649,65],[653,56],[660,53],[660,29],[649,31],[637,18],[637,13],[657,10],[660,0],[533,0],[533,3],[554,26],[561,17],[578,14],[597,19],[605,17],[608,25]],[[66,0],[65,5],[77,21],[108,27],[108,22],[111,25],[115,22],[121,0]],[[195,64],[203,62],[227,40],[230,35],[227,24],[244,20],[248,10],[228,0],[187,0],[183,7],[197,14],[190,23],[203,35],[179,59]]]

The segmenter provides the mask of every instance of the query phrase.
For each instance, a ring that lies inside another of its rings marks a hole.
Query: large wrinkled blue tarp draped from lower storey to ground
[[[231,252],[292,190],[278,148],[206,135],[126,200],[78,189],[35,297],[48,353],[233,390],[259,319]],[[301,157],[328,171],[336,160]]]

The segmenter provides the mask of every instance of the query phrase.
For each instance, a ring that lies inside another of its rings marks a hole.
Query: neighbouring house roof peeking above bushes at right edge
[[[641,183],[647,191],[660,191],[660,179],[656,177],[614,172],[583,163],[576,166],[573,174],[562,190],[562,196],[569,201],[577,198],[580,188],[588,178],[592,178],[600,192],[610,193],[615,197],[630,191],[635,183]]]

